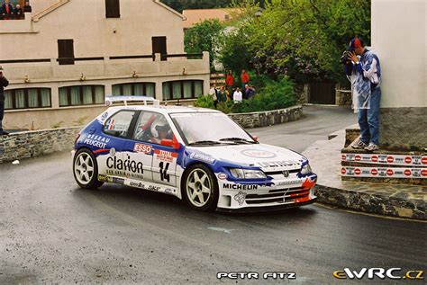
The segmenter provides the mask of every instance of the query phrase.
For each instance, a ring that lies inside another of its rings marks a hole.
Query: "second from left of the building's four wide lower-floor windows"
[[[103,85],[59,87],[59,107],[104,104]]]

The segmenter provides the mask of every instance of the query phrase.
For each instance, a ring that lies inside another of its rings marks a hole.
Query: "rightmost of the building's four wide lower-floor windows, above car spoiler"
[[[203,80],[178,80],[163,83],[163,100],[193,99],[203,94]]]

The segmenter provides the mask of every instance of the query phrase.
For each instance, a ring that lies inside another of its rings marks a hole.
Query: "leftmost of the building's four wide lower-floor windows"
[[[50,108],[50,88],[5,90],[5,109]]]

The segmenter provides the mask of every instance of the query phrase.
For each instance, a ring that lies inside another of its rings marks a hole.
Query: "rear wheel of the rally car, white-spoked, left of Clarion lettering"
[[[94,154],[86,149],[79,149],[73,159],[73,174],[78,186],[96,189],[104,183],[98,181],[98,165]]]

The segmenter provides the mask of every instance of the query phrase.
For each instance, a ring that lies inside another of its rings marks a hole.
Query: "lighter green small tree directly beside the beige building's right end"
[[[223,24],[218,20],[206,20],[195,24],[187,29],[184,34],[184,45],[186,53],[202,53],[209,51],[210,66],[216,58],[218,40],[223,31]]]

